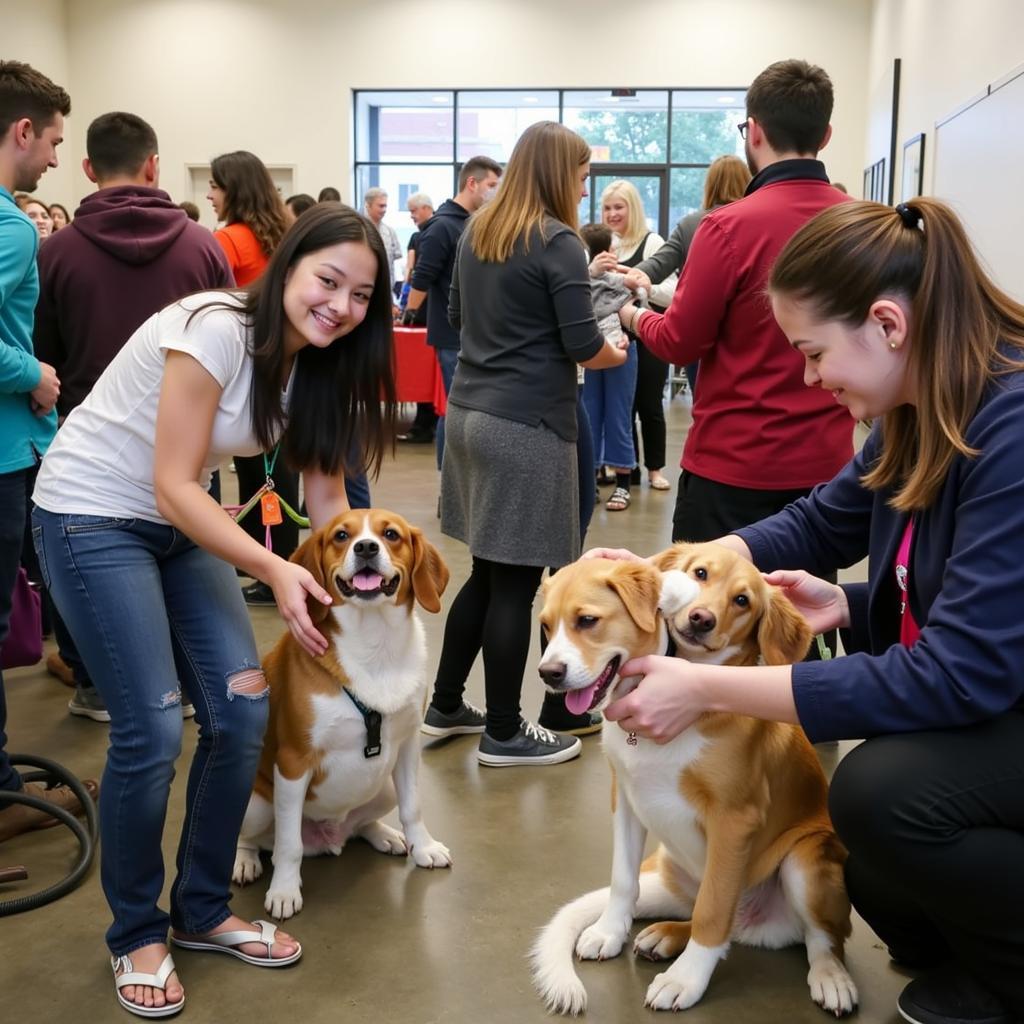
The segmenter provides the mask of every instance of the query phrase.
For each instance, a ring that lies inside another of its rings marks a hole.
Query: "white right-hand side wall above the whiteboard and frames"
[[[932,189],[935,122],[1024,61],[1024,3],[1020,0],[874,0],[868,83],[878,83],[900,57],[896,182],[903,143],[925,139],[925,194]],[[871,123],[884,112],[872,101]],[[882,156],[867,133],[865,165]]]

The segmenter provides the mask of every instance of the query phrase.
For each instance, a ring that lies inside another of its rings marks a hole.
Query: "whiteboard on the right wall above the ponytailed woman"
[[[950,203],[996,284],[1024,302],[1024,67],[936,125],[933,195]]]

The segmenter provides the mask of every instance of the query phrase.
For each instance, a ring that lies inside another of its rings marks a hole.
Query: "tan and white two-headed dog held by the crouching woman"
[[[679,653],[694,662],[788,664],[806,653],[806,622],[731,551],[677,545],[654,561],[664,574],[588,560],[546,584],[541,622],[550,642],[541,675],[574,710],[633,689],[636,679],[615,681],[618,667],[663,653],[666,621]],[[664,916],[674,920],[634,941],[641,956],[674,959],[651,982],[646,1006],[693,1006],[732,941],[804,942],[811,997],[837,1016],[852,1012],[857,991],[843,964],[846,851],[803,730],[716,713],[664,745],[605,722],[602,744],[613,776],[611,885],[562,907],[534,945],[534,980],[548,1008],[586,1009],[573,951],[615,956],[635,918]],[[641,864],[648,833],[660,846]]]

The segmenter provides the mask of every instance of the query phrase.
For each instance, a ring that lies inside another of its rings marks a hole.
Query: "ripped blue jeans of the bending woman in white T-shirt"
[[[167,927],[215,928],[259,761],[268,697],[234,570],[172,526],[36,508],[50,594],[111,713],[99,793],[100,878],[115,955],[164,942]],[[161,852],[181,690],[196,706],[170,914]]]

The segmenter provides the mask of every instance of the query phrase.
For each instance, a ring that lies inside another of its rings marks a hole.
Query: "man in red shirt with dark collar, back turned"
[[[804,359],[765,295],[786,242],[841,203],[817,159],[831,134],[828,76],[803,60],[763,71],[739,124],[754,174],[743,199],[700,222],[665,314],[626,306],[625,327],[663,359],[700,360],[673,541],[710,541],[777,512],[853,455],[849,413],[804,384]],[[627,276],[646,286],[642,272]]]

